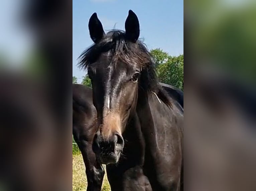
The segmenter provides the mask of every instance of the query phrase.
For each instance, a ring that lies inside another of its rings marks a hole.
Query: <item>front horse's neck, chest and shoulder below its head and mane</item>
[[[124,158],[107,165],[113,191],[180,189],[183,114],[176,106],[170,110],[154,94],[148,97],[138,100],[139,109],[123,134]]]

